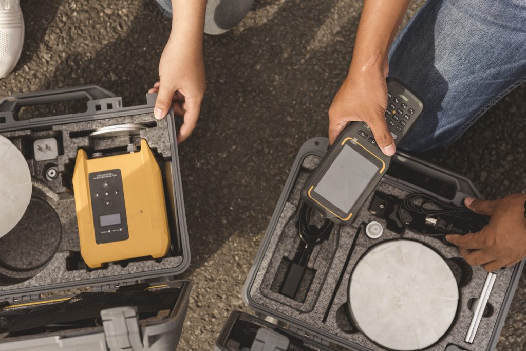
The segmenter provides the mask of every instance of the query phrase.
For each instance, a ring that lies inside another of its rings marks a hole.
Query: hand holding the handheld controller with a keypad
[[[371,131],[381,151],[395,154],[395,141],[385,120],[387,107],[387,69],[349,71],[329,108],[329,142],[332,144],[349,122],[363,121]]]

